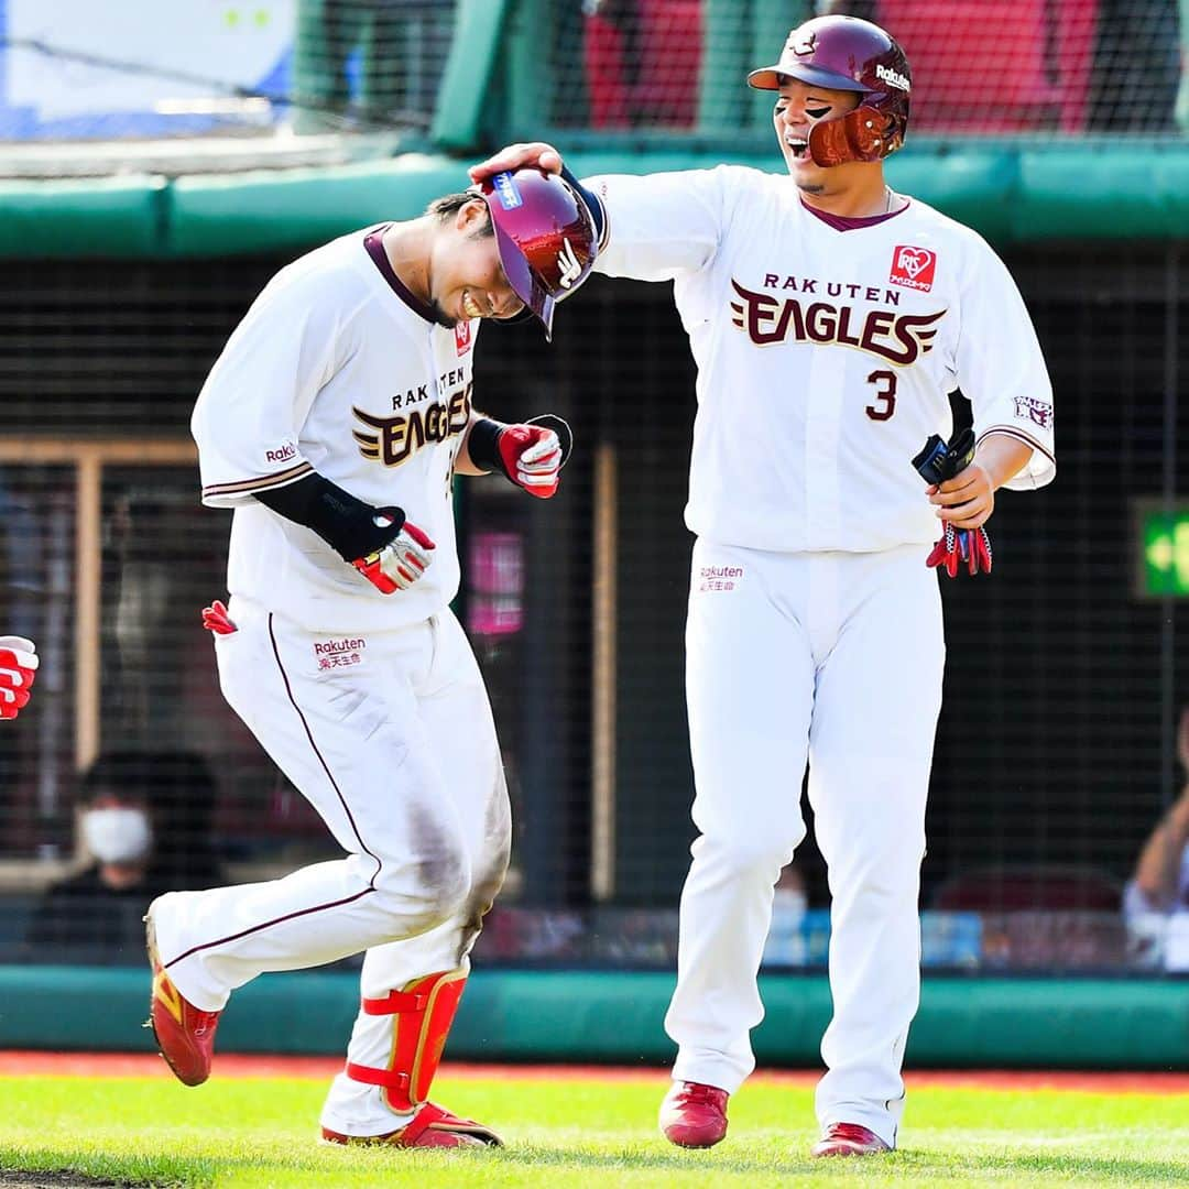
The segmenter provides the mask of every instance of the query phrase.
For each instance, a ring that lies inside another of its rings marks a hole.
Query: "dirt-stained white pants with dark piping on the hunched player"
[[[369,999],[466,967],[503,882],[510,814],[486,690],[454,616],[332,638],[243,598],[228,614],[239,630],[215,637],[224,696],[346,857],[163,897],[157,943],[178,990],[216,1011],[265,970],[361,950]],[[394,1019],[360,1012],[348,1061],[385,1067]],[[322,1122],[356,1135],[400,1126],[378,1087],[341,1075]]]

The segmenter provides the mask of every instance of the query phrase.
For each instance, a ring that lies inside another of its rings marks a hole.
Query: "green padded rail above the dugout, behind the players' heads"
[[[567,151],[579,175],[697,169],[774,155],[650,146]],[[0,257],[172,257],[297,252],[356,227],[407,219],[465,189],[473,158],[409,152],[333,169],[0,183]],[[998,245],[1189,239],[1189,144],[919,144],[892,184]],[[1143,178],[1143,184],[1137,184]]]

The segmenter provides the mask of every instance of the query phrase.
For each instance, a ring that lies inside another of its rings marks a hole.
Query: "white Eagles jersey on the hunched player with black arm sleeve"
[[[478,319],[454,329],[391,275],[359,231],[269,282],[202,388],[191,432],[202,501],[233,508],[227,585],[317,631],[400,628],[458,590],[451,501],[471,415]],[[396,505],[429,534],[415,586],[382,594],[316,533],[253,492],[317,471],[366,503]]]

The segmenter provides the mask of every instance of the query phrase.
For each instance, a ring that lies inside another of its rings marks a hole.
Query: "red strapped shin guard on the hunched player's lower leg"
[[[384,1088],[384,1101],[396,1114],[415,1111],[429,1096],[454,1023],[458,1001],[466,987],[464,968],[414,979],[383,999],[363,1001],[366,1015],[395,1015],[392,1056],[388,1069],[347,1062],[347,1077]]]

